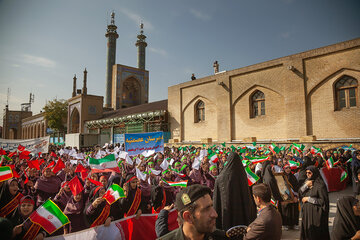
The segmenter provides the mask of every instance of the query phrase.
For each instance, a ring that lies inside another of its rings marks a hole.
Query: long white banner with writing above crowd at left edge
[[[0,138],[0,148],[7,151],[15,151],[19,145],[32,153],[47,153],[49,149],[50,136],[33,139],[3,139]]]

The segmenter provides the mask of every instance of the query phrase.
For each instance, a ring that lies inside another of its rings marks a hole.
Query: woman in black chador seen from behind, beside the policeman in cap
[[[218,214],[218,229],[228,230],[236,225],[249,225],[256,218],[256,207],[250,194],[247,175],[237,153],[229,154],[226,166],[216,178],[213,200]]]

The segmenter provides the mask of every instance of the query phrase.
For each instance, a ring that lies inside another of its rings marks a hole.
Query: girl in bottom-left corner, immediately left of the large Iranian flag
[[[13,239],[33,240],[43,239],[46,232],[40,225],[27,220],[31,213],[35,210],[35,201],[31,196],[25,196],[20,200],[20,204],[10,218],[14,229]]]

